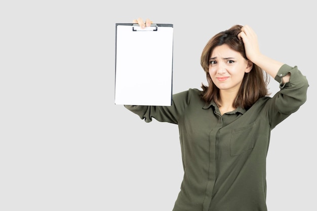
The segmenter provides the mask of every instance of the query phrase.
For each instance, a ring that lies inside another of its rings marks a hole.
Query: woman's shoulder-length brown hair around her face
[[[214,35],[203,49],[201,56],[201,65],[206,72],[209,86],[202,83],[202,99],[205,102],[214,100],[217,105],[220,105],[219,88],[215,86],[209,75],[209,59],[217,46],[223,44],[228,45],[232,50],[241,53],[241,55],[248,59],[245,52],[244,43],[239,40],[237,34],[241,32],[241,25],[234,25],[228,30],[219,32]],[[269,95],[267,85],[269,82],[268,74],[259,66],[253,64],[249,73],[245,73],[239,92],[233,101],[233,107],[242,107],[249,109],[259,98]]]

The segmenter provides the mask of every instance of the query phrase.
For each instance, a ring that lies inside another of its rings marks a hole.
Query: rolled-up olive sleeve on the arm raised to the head
[[[283,83],[282,77],[290,73],[290,80]],[[274,127],[290,114],[296,112],[307,100],[309,87],[306,76],[297,68],[284,64],[274,78],[280,83],[280,91],[273,96],[270,108],[271,124]]]

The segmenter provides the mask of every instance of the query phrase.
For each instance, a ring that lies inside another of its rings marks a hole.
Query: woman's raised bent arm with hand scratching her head
[[[259,50],[257,35],[250,26],[243,26],[237,36],[243,40],[247,58],[280,83],[281,90],[274,96],[272,104],[274,109],[270,109],[271,116],[297,111],[306,102],[309,86],[306,76],[298,70],[297,66],[292,67],[263,55]],[[277,121],[280,120],[277,119]]]

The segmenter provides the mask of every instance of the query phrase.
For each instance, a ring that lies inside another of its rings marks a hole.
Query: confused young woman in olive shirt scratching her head
[[[125,107],[146,122],[178,124],[184,177],[173,211],[265,211],[270,132],[306,101],[307,79],[262,55],[248,25],[213,36],[201,65],[202,90],[173,95],[172,106]],[[269,75],[281,89],[272,97]]]

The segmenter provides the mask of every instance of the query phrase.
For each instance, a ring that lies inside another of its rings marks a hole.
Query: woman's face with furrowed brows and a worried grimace
[[[238,92],[245,73],[252,69],[252,62],[224,44],[217,46],[209,59],[209,74],[220,91]]]

